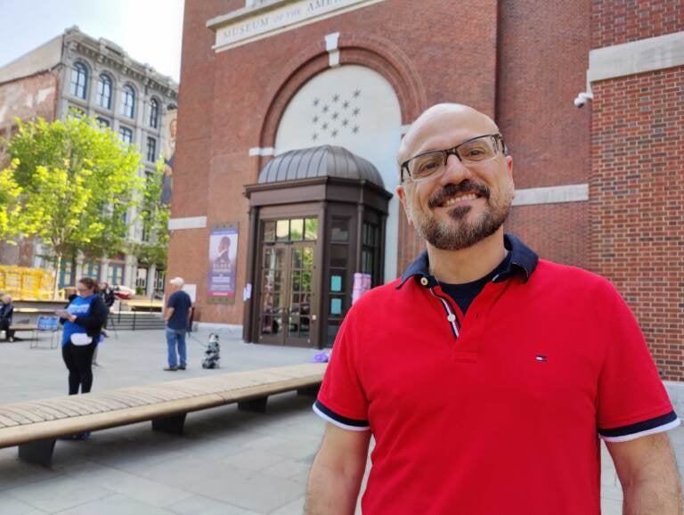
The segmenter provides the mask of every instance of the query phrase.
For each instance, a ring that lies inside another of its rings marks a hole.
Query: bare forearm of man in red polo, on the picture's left
[[[353,515],[371,431],[328,424],[309,475],[305,515]]]

